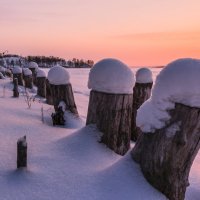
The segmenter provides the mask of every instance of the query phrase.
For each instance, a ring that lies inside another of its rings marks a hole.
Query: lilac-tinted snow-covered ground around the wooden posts
[[[52,106],[37,98],[28,109],[22,93],[12,98],[11,81],[0,80],[0,200],[166,200],[146,182],[130,152],[123,157],[113,153],[98,143],[94,126],[85,127],[89,69],[68,71],[80,119],[66,113],[65,127],[52,126]],[[155,79],[160,69],[152,71]],[[16,170],[16,142],[24,135],[28,168]],[[200,199],[199,155],[186,199]]]

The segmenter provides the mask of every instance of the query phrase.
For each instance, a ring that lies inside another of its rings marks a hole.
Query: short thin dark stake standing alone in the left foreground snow
[[[27,142],[26,136],[17,141],[17,168],[27,167]]]

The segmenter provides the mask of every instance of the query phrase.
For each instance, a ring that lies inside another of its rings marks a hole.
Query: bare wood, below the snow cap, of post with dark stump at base
[[[70,112],[74,114],[78,114],[74,95],[72,91],[72,86],[70,83],[65,85],[53,85],[50,84],[51,89],[51,95],[53,98],[53,105],[55,108],[55,111],[58,110],[58,105],[60,101],[64,101],[66,104],[66,110],[69,110]]]

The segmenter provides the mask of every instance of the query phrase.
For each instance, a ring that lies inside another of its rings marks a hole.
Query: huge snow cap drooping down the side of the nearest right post
[[[136,123],[143,132],[163,128],[175,103],[200,108],[200,61],[178,59],[157,76],[151,98],[138,110]]]

